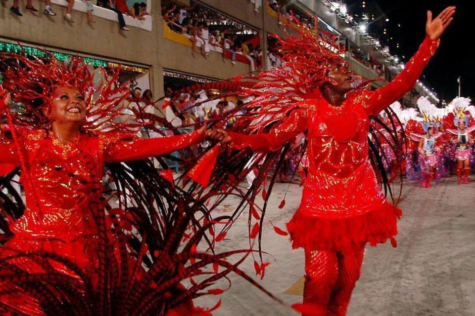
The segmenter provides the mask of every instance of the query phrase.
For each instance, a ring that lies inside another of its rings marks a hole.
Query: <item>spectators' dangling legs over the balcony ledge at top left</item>
[[[8,0],[2,0],[2,1],[6,2]],[[13,3],[12,3],[12,6],[10,7],[10,11],[13,14],[16,14],[17,16],[23,16],[23,14],[20,12],[18,0],[12,0],[12,1]],[[27,0],[25,9],[32,12],[38,12],[38,9],[33,5],[32,1],[33,0]],[[122,31],[129,31],[129,28],[127,27],[124,20],[124,14],[131,16],[133,18],[139,19],[139,20],[143,20],[145,18],[145,15],[148,14],[147,4],[145,2],[135,2],[132,7],[129,7],[127,5],[127,0],[82,0],[82,1],[85,2],[87,5],[87,15],[88,15],[89,23],[95,22],[93,18],[93,11],[94,11],[94,6],[97,5],[97,6],[109,9],[117,13],[119,27]],[[73,11],[73,6],[74,6],[74,0],[67,0],[67,2],[68,4],[66,6],[64,19],[66,19],[70,23],[74,23],[74,20],[71,16],[71,13]],[[51,0],[45,0],[45,9],[43,10],[43,12],[49,16],[56,15],[56,13],[51,8]]]

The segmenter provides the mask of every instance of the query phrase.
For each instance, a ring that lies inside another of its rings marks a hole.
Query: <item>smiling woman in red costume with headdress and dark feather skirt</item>
[[[201,142],[204,127],[138,139],[138,120],[117,123],[130,112],[118,72],[97,87],[94,79],[105,71],[93,75],[77,58],[62,63],[52,55],[35,60],[0,53],[0,66],[6,89],[0,91],[0,114],[10,133],[0,139],[0,188],[1,177],[21,167],[27,204],[24,214],[14,212],[21,198],[12,203],[0,192],[2,315],[209,315],[191,298],[222,292],[200,291],[230,271],[260,287],[225,261],[248,250],[215,255],[196,249],[214,223],[192,189],[176,189],[171,174],[160,176],[152,161],[125,169],[118,163]],[[10,113],[10,98],[23,111]],[[130,205],[111,208],[103,197],[105,163],[131,193]],[[201,226],[203,216],[208,224]],[[205,238],[212,247],[214,231]],[[204,271],[211,263],[214,272]],[[218,273],[220,266],[226,271]],[[212,276],[187,289],[180,283],[203,275]]]

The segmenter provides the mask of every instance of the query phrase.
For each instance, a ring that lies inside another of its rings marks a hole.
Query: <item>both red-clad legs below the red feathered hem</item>
[[[360,277],[364,249],[344,253],[305,249],[303,302],[314,306],[312,316],[346,315]]]

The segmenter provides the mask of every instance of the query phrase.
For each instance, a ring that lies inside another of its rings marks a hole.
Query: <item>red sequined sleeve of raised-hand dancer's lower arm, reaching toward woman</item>
[[[254,152],[275,152],[308,127],[308,109],[293,111],[285,121],[269,133],[244,135],[229,132],[230,146],[236,149],[248,148]]]

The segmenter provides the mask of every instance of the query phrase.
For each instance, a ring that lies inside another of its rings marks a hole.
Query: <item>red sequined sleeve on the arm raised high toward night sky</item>
[[[431,40],[426,37],[404,70],[387,85],[369,94],[369,99],[365,102],[368,115],[377,115],[416,84],[439,43],[440,40]]]

